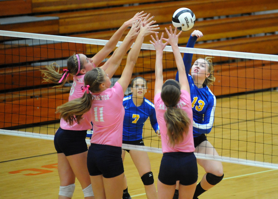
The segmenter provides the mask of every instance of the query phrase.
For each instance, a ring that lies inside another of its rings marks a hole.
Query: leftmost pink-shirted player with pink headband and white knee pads
[[[121,38],[123,31],[135,23],[140,17],[146,16],[142,12],[135,14],[129,21],[116,31],[109,42],[94,57],[87,58],[83,54],[73,55],[68,58],[68,69],[64,69],[64,73],[60,74],[55,70],[56,63],[47,67],[47,71],[42,71],[44,79],[49,82],[59,83],[63,86],[68,81],[68,75],[73,75],[73,85],[71,87],[69,101],[83,96],[84,76],[86,72],[91,71],[102,60],[109,55],[115,48],[117,42]],[[109,77],[112,77],[116,69],[121,63],[123,55],[132,45],[137,36],[137,30],[132,28],[126,35],[120,47],[118,47],[108,61],[101,66]],[[59,66],[58,66],[59,68]],[[58,173],[60,178],[59,199],[71,198],[75,188],[75,177],[81,184],[84,192],[84,198],[94,198],[92,191],[90,175],[87,170],[87,144],[85,137],[87,130],[92,128],[91,113],[87,112],[83,115],[83,120],[78,124],[75,121],[68,124],[61,119],[60,128],[55,133],[54,145],[58,155]]]

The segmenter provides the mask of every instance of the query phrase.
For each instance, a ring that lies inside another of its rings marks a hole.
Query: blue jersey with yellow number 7
[[[124,141],[143,139],[143,126],[148,117],[150,117],[150,123],[155,132],[159,130],[155,115],[155,105],[151,101],[144,98],[142,105],[136,107],[132,101],[132,95],[129,95],[123,98],[123,107],[125,109],[123,119]]]

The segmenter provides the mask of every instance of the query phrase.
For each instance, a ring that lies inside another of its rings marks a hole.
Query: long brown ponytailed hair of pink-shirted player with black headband
[[[176,81],[176,83],[178,82]],[[189,125],[191,124],[186,112],[176,107],[180,97],[180,88],[170,84],[162,87],[161,99],[167,106],[167,110],[164,113],[164,120],[167,126],[169,143],[172,146],[183,141],[183,133],[188,134]]]

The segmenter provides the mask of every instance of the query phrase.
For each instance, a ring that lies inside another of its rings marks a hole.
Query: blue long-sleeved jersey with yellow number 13
[[[197,40],[196,36],[190,36],[186,47],[193,48]],[[193,54],[184,53],[183,63],[188,77],[190,87],[190,95],[193,111],[193,136],[198,137],[201,134],[209,133],[212,129],[214,121],[214,111],[216,106],[216,98],[210,89],[203,84],[203,88],[198,89],[194,81],[189,75]],[[179,72],[176,74],[176,80],[179,81]]]

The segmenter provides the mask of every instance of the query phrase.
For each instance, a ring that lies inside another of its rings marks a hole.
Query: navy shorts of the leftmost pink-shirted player
[[[54,136],[54,147],[57,153],[66,156],[80,154],[88,150],[86,143],[87,130],[73,131],[59,128]]]

